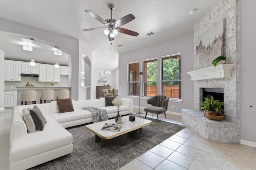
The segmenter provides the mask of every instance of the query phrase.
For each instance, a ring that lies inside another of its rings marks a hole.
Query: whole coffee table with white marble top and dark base
[[[152,123],[152,121],[140,117],[136,117],[135,121],[129,121],[129,115],[122,116],[122,121],[122,127],[119,132],[101,130],[105,123],[116,123],[115,119],[86,125],[86,129],[95,134],[95,143],[101,142],[101,147],[103,148],[109,145],[126,145],[127,135],[133,137],[134,139],[140,139],[142,127],[145,127]]]

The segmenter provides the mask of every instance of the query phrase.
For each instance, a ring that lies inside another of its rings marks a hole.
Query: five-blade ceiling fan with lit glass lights
[[[134,20],[135,19],[134,15],[129,14],[127,16],[120,18],[119,20],[112,19],[112,10],[114,10],[114,8],[115,8],[115,6],[113,4],[108,4],[108,9],[110,9],[110,11],[111,11],[111,18],[106,19],[106,20],[103,20],[102,18],[100,18],[98,15],[96,15],[91,10],[85,10],[85,12],[87,12],[90,16],[92,16],[96,20],[100,21],[101,23],[105,24],[106,27],[82,29],[82,31],[94,31],[94,30],[99,30],[99,29],[105,29],[104,33],[106,35],[108,35],[109,41],[114,40],[114,37],[118,34],[118,32],[137,37],[139,35],[139,33],[129,30],[129,29],[120,28],[121,25],[124,25],[124,24]]]

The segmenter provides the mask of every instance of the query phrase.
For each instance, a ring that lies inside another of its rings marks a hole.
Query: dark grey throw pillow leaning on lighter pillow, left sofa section
[[[45,122],[44,122],[43,114],[40,111],[40,109],[35,105],[33,109],[31,109],[29,112],[34,119],[34,123],[36,124],[36,129],[43,131]]]

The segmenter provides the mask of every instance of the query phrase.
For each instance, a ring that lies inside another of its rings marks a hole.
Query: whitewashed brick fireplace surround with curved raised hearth
[[[204,139],[219,143],[240,141],[240,1],[221,0],[198,23],[194,25],[194,61],[196,60],[196,39],[218,21],[225,20],[224,49],[226,63],[234,64],[230,78],[195,80],[194,109],[182,109],[182,123]],[[210,67],[209,57],[204,67]],[[202,69],[194,63],[194,70]],[[224,88],[224,119],[209,120],[199,110],[202,88]]]

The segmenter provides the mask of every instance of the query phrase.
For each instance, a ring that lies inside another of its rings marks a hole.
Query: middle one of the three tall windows
[[[143,96],[157,95],[157,59],[143,61]]]

